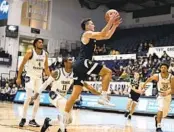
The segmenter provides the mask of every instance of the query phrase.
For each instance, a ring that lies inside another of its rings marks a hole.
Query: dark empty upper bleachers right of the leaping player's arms
[[[121,53],[126,53],[128,50],[135,53],[136,47],[145,42],[151,42],[156,47],[173,45],[173,29],[174,24],[117,30],[108,43],[110,47]]]

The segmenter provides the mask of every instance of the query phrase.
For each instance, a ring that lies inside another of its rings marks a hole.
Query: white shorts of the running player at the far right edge
[[[158,96],[158,98],[157,98],[158,111],[163,112],[163,117],[166,117],[170,111],[171,100],[172,100],[171,95],[168,95],[165,97]]]

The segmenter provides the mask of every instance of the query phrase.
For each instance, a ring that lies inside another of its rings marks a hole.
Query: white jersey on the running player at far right
[[[158,75],[158,91],[159,92],[165,92],[167,90],[171,89],[171,74],[169,73],[167,78],[162,78],[161,74]]]

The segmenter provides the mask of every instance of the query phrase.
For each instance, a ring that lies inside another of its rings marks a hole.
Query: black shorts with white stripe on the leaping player
[[[85,81],[91,74],[98,75],[103,68],[102,65],[91,60],[77,60],[73,65],[74,85],[81,85],[81,81]]]

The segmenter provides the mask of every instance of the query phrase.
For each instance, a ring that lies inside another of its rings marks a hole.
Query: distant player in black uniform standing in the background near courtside
[[[137,103],[139,101],[140,95],[143,94],[143,90],[141,90],[140,86],[140,75],[138,72],[134,73],[134,79],[131,81],[130,85],[131,91],[129,93],[129,99],[127,104],[127,111],[125,113],[125,117],[131,120],[131,116],[133,115]]]

